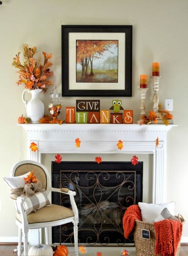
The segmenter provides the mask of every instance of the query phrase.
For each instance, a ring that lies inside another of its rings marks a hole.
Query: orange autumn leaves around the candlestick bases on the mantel
[[[168,119],[173,119],[173,115],[171,115],[168,110],[161,109],[162,108],[161,103],[158,105],[158,108],[159,110],[157,114],[153,111],[149,111],[148,117],[146,115],[142,115],[141,116],[142,121],[140,125],[151,124],[151,123],[157,124],[157,118],[159,118],[162,120],[163,124],[167,126],[169,124]]]

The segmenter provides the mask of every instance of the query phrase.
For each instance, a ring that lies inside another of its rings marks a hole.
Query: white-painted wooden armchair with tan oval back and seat
[[[11,176],[20,176],[28,171],[35,170],[34,175],[42,183],[42,188],[45,188],[47,194],[50,191],[66,194],[70,197],[72,210],[59,205],[46,206],[36,210],[28,215],[24,211],[24,198],[16,195],[11,195],[11,198],[15,200],[17,206],[16,224],[18,225],[18,256],[21,255],[21,241],[23,236],[24,243],[24,255],[28,255],[28,231],[29,229],[45,228],[46,243],[49,243],[48,228],[53,226],[62,225],[72,222],[74,225],[74,247],[75,256],[78,256],[78,209],[74,200],[76,192],[69,190],[68,188],[53,188],[51,187],[50,175],[47,168],[35,161],[26,160],[21,161],[14,165],[11,169]],[[19,213],[20,212],[20,213]]]

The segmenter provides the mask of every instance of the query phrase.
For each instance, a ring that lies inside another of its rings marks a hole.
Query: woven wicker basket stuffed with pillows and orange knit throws
[[[178,214],[176,218],[178,218],[182,224],[185,222],[184,218],[180,214]],[[142,238],[142,235],[141,235],[142,229],[146,229],[150,231],[150,239]],[[136,255],[137,256],[156,256],[155,241],[156,241],[156,235],[155,235],[155,229],[154,229],[153,223],[136,220],[135,228],[134,228],[134,243],[136,247]],[[178,244],[176,256],[179,255],[179,251],[180,251],[180,242]]]

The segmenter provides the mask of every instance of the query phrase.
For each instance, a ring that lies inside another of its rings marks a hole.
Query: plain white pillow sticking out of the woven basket
[[[160,205],[138,203],[138,205],[141,210],[142,221],[153,222],[154,219],[160,215],[164,208],[167,208],[168,211],[174,216],[175,202]]]

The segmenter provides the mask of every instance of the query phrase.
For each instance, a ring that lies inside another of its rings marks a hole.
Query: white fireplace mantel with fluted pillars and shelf
[[[165,201],[167,132],[176,125],[163,124],[19,124],[27,131],[28,159],[41,162],[45,153],[152,154],[152,202]],[[156,148],[156,139],[159,145]],[[80,148],[75,139],[79,138]],[[123,148],[117,148],[118,140]],[[35,142],[38,151],[29,149]]]

